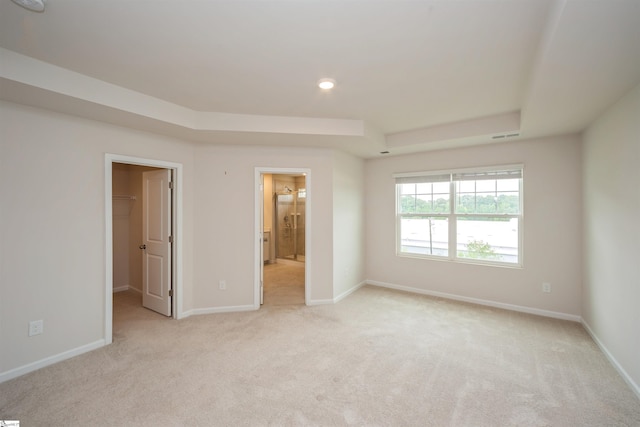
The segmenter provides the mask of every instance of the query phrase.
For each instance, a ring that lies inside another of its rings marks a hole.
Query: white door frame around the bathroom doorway
[[[254,230],[255,230],[255,246],[254,246],[254,265],[255,272],[254,291],[253,291],[253,306],[256,310],[260,308],[260,279],[262,276],[262,268],[264,267],[262,260],[262,227],[261,224],[263,211],[264,211],[264,198],[262,197],[262,191],[260,186],[262,185],[262,175],[274,174],[274,175],[292,175],[292,174],[305,174],[305,186],[307,189],[307,196],[305,200],[305,241],[304,241],[304,303],[305,305],[311,305],[311,200],[313,198],[313,191],[311,191],[311,169],[308,168],[271,168],[271,167],[256,167],[255,168],[255,214],[254,214]],[[271,230],[271,238],[273,239],[273,230]]]

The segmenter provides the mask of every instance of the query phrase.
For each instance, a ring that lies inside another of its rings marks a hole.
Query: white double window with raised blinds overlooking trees
[[[396,174],[397,253],[521,265],[522,166]]]

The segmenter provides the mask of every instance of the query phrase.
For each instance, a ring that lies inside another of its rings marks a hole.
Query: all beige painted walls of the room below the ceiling
[[[640,238],[629,215],[638,211],[639,98],[636,88],[586,133],[584,175],[577,136],[363,162],[330,150],[192,145],[0,102],[0,374],[104,338],[104,154],[114,153],[184,165],[185,311],[251,304],[254,168],[304,167],[312,170],[313,300],[330,301],[366,277],[558,313],[582,310],[637,383]],[[395,256],[392,173],[505,163],[525,164],[523,269]],[[218,290],[220,279],[227,291]],[[542,281],[552,283],[551,294],[540,291]],[[27,337],[28,322],[38,319],[45,333]]]

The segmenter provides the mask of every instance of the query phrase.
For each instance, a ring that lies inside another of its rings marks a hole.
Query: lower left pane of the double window
[[[400,219],[400,252],[448,256],[449,221],[441,217]]]

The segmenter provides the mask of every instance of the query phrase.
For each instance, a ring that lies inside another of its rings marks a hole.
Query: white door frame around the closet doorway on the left
[[[105,344],[113,342],[113,164],[124,163],[138,166],[150,166],[155,168],[171,169],[174,173],[173,190],[173,251],[172,271],[173,300],[172,313],[174,319],[181,319],[182,315],[182,164],[166,162],[155,159],[145,159],[141,157],[123,156],[119,154],[106,153],[104,157],[104,206],[105,206],[105,318],[104,318],[104,339]]]

